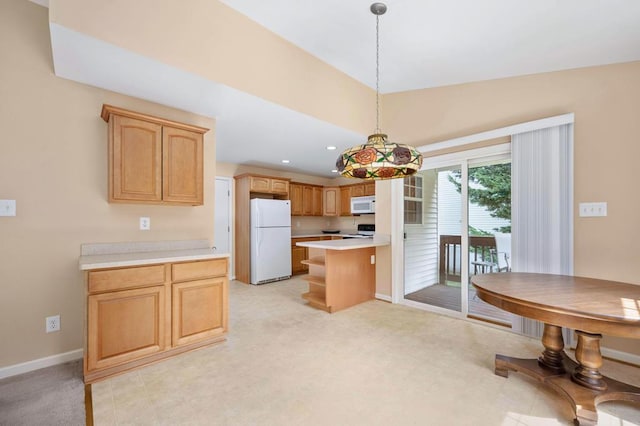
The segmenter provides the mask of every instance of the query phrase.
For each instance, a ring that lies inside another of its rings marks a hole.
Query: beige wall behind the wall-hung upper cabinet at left
[[[213,241],[215,122],[53,75],[47,9],[0,2],[0,367],[82,347],[80,244],[203,238]],[[103,103],[210,128],[205,205],[109,204]],[[138,217],[151,230],[138,230]],[[44,318],[61,315],[46,334]]]

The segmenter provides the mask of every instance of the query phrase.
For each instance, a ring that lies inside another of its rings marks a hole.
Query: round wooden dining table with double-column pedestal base
[[[640,338],[640,286],[594,278],[532,273],[495,273],[471,278],[478,297],[523,317],[542,321],[544,351],[538,359],[496,355],[495,373],[527,374],[573,405],[576,423],[596,424],[596,405],[640,402],[640,388],[603,376],[602,334]],[[576,330],[576,361],[564,352],[562,327]]]

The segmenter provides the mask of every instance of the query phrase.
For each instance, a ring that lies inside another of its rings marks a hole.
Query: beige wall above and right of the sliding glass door
[[[640,62],[390,94],[382,116],[395,140],[419,146],[568,112],[575,113],[575,274],[640,284]],[[587,201],[606,201],[608,216],[578,217]],[[607,341],[640,353],[638,341]]]

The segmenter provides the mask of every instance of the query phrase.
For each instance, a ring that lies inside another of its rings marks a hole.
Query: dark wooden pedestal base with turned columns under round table
[[[571,403],[573,412],[576,415],[575,422],[579,425],[597,424],[598,414],[596,406],[601,402],[640,402],[640,388],[602,376],[602,374],[597,371],[597,367],[594,369],[594,367],[586,367],[582,364],[584,360],[577,363],[569,358],[564,351],[562,351],[564,344],[562,341],[561,330],[562,329],[560,327],[554,325],[545,324],[544,326],[545,335],[548,332],[558,334],[559,341],[556,340],[554,343],[556,344],[556,347],[557,345],[560,345],[559,351],[550,349],[545,345],[545,336],[543,336],[542,341],[545,346],[545,350],[542,352],[540,358],[521,359],[505,355],[496,355],[495,373],[498,376],[508,377],[509,370],[516,371],[524,373],[551,387]],[[593,335],[581,331],[577,331],[577,333],[578,348],[580,348],[581,340],[584,340],[584,338],[581,337],[581,334],[587,334],[590,339],[592,336],[598,336],[595,340],[596,342],[599,342],[601,337],[600,335]],[[579,358],[579,352],[580,351],[576,349],[576,358]],[[599,350],[597,351],[597,354],[596,358],[600,359],[599,363],[602,365],[602,357],[600,356]],[[598,361],[595,361],[596,364],[597,362]],[[599,376],[596,383],[593,384],[593,387],[587,386],[581,381],[583,379],[582,376],[585,368],[589,368],[587,375],[589,380],[591,380],[593,376]],[[575,376],[578,376],[578,378]]]

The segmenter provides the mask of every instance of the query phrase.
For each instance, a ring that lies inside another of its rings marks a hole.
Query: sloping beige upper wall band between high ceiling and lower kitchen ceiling
[[[355,132],[374,127],[373,89],[217,0],[50,0],[49,8],[51,22],[131,52]]]

